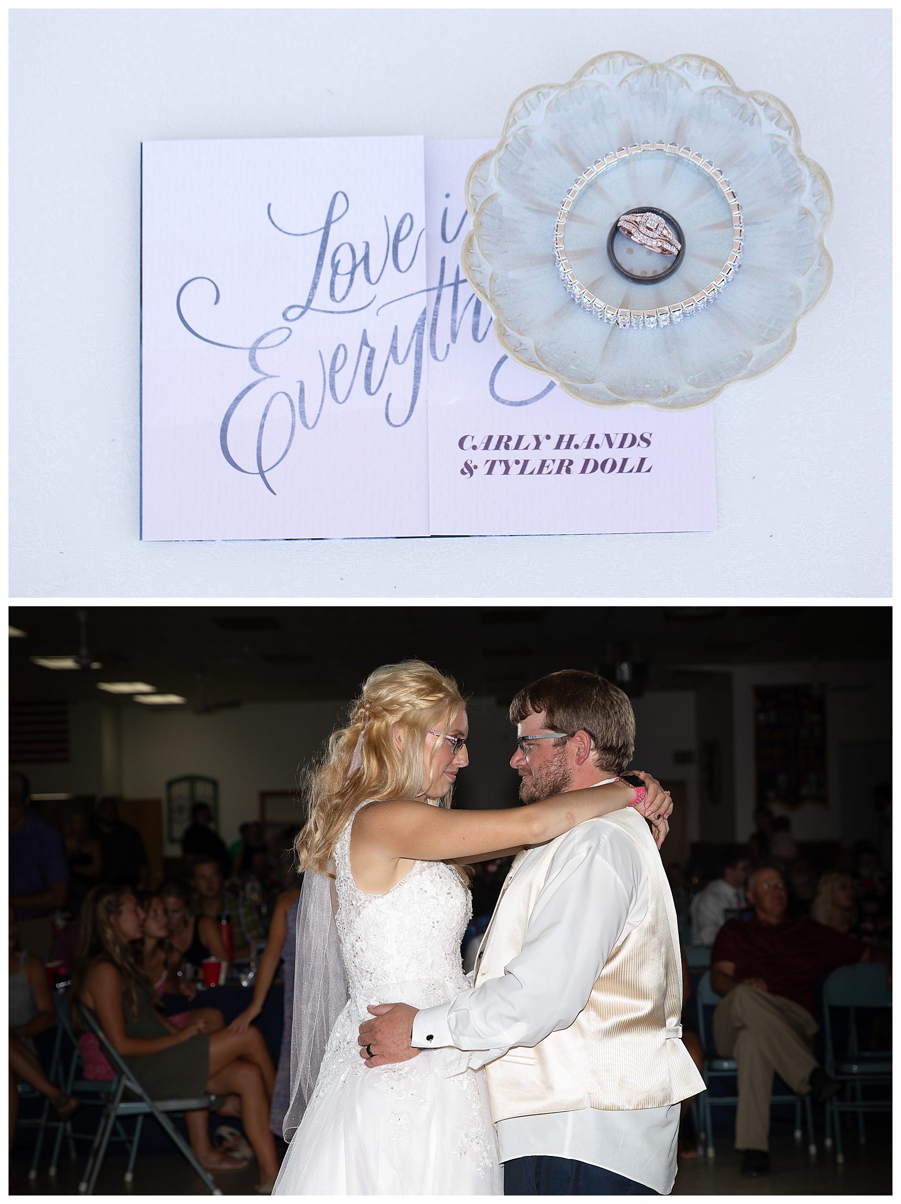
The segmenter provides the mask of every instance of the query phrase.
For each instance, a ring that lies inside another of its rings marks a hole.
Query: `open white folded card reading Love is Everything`
[[[141,538],[716,527],[709,406],[504,355],[459,260],[491,144],[143,143]]]

